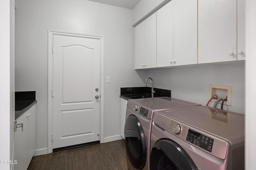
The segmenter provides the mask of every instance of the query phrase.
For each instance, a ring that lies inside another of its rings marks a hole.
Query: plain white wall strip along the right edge
[[[256,1],[246,0],[246,117],[245,117],[245,169],[255,169],[256,133]]]

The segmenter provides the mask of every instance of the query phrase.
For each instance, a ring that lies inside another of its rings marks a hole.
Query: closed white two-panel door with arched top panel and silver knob
[[[53,149],[99,141],[100,40],[54,35],[53,51]]]

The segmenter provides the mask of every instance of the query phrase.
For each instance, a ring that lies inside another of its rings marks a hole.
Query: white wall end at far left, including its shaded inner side
[[[12,170],[14,147],[14,0],[0,0],[0,169]]]

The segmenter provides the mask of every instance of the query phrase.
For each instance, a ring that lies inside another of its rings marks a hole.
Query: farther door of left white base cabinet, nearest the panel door
[[[36,106],[27,111],[28,116],[28,165],[36,149]]]

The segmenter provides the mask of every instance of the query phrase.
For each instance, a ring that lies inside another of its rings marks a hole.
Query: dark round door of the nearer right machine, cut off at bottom
[[[152,148],[150,154],[152,170],[197,170],[187,152],[174,141],[162,139]]]

